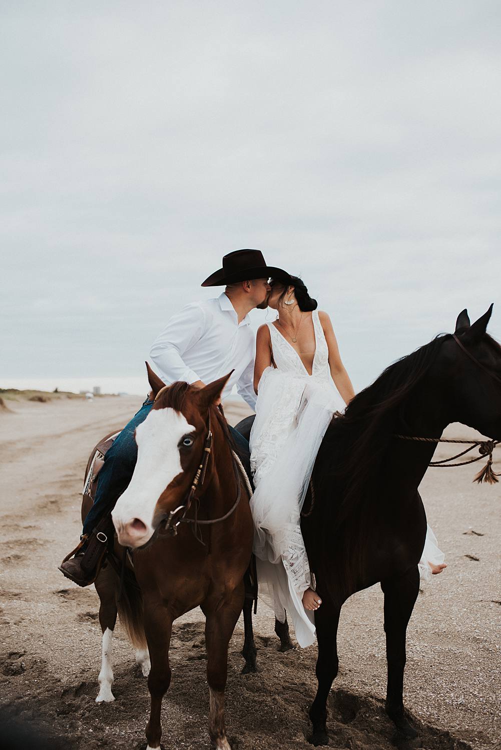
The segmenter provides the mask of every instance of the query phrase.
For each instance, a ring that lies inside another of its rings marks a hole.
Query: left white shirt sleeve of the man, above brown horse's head
[[[183,380],[185,383],[201,380],[183,361],[183,354],[201,339],[204,326],[204,310],[195,302],[173,315],[161,334],[153,341],[149,356],[167,385],[177,380]]]

